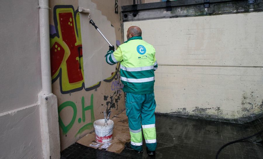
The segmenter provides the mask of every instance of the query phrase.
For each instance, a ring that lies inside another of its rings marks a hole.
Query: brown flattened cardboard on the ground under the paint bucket
[[[118,114],[111,120],[114,122],[114,127],[112,141],[110,143],[97,143],[95,132],[82,137],[77,141],[77,143],[95,149],[104,148],[109,152],[121,153],[125,148],[125,143],[131,140],[126,112],[124,111]]]

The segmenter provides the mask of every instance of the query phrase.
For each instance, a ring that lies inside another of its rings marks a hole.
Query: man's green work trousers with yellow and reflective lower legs
[[[126,93],[126,115],[129,121],[131,148],[142,150],[142,131],[149,151],[156,150],[155,107],[154,93]]]

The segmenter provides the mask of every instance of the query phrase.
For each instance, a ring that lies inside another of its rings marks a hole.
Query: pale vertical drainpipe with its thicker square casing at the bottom
[[[38,94],[41,129],[42,158],[60,158],[58,128],[58,101],[52,93],[50,42],[49,42],[49,0],[39,0],[39,37],[41,54],[42,92]]]

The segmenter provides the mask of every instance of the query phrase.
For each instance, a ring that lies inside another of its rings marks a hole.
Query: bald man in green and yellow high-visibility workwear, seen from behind
[[[141,29],[131,26],[127,30],[127,41],[116,51],[114,46],[106,54],[106,61],[113,65],[120,62],[120,78],[126,93],[126,115],[129,121],[131,142],[125,143],[125,148],[141,153],[142,130],[146,141],[148,155],[155,155],[155,99],[154,71],[158,65],[155,49],[141,37]],[[141,129],[142,128],[142,129]]]

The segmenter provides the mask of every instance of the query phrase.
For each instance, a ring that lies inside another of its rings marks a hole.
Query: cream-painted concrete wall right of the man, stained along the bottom
[[[238,119],[263,111],[263,12],[124,23],[156,49],[156,112]]]

